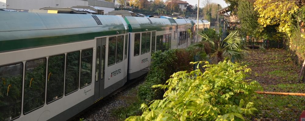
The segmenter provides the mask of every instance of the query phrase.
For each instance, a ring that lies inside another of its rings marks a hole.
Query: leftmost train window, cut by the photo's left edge
[[[1,121],[14,119],[20,116],[22,98],[22,77],[22,63],[16,63],[0,67]]]

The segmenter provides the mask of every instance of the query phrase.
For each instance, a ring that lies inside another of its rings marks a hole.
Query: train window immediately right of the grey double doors
[[[109,37],[108,66],[116,63],[116,37]]]

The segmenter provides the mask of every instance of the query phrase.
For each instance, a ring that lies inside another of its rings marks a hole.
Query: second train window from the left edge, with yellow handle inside
[[[27,61],[24,76],[24,114],[44,105],[45,90],[46,58]]]

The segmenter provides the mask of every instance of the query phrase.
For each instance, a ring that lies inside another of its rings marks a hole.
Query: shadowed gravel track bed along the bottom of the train
[[[123,87],[112,92],[107,97],[98,101],[94,105],[91,105],[79,114],[73,116],[69,121],[79,121],[82,118],[87,121],[116,121],[116,119],[111,116],[112,109],[120,106],[127,106],[124,101],[118,100],[117,97],[124,95],[123,93],[128,92],[130,88],[138,86],[144,81],[146,75],[147,74],[134,80],[127,81]]]

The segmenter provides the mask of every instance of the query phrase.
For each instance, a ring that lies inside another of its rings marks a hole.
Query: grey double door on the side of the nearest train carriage
[[[96,39],[94,101],[100,99],[104,92],[106,40],[106,37]]]

